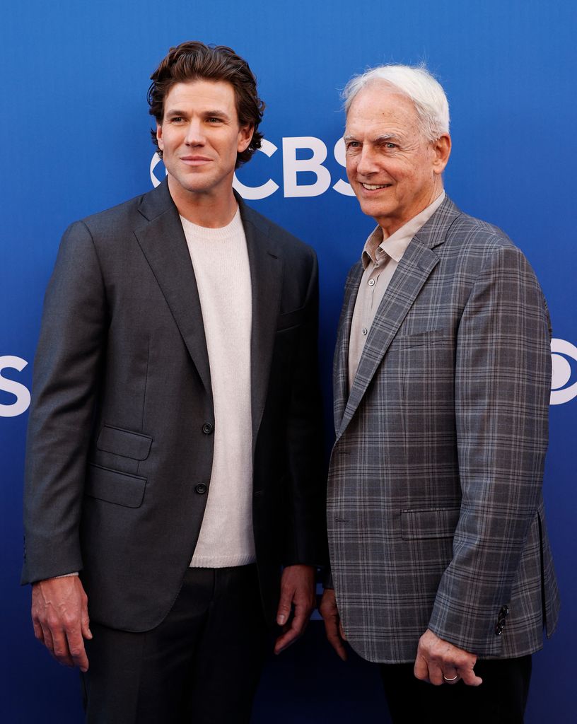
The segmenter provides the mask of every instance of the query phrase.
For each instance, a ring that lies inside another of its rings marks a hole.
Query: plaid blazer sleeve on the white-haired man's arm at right
[[[542,499],[551,382],[547,307],[521,251],[497,248],[460,320],[455,415],[462,501],[429,628],[467,651],[500,651],[528,529]]]

